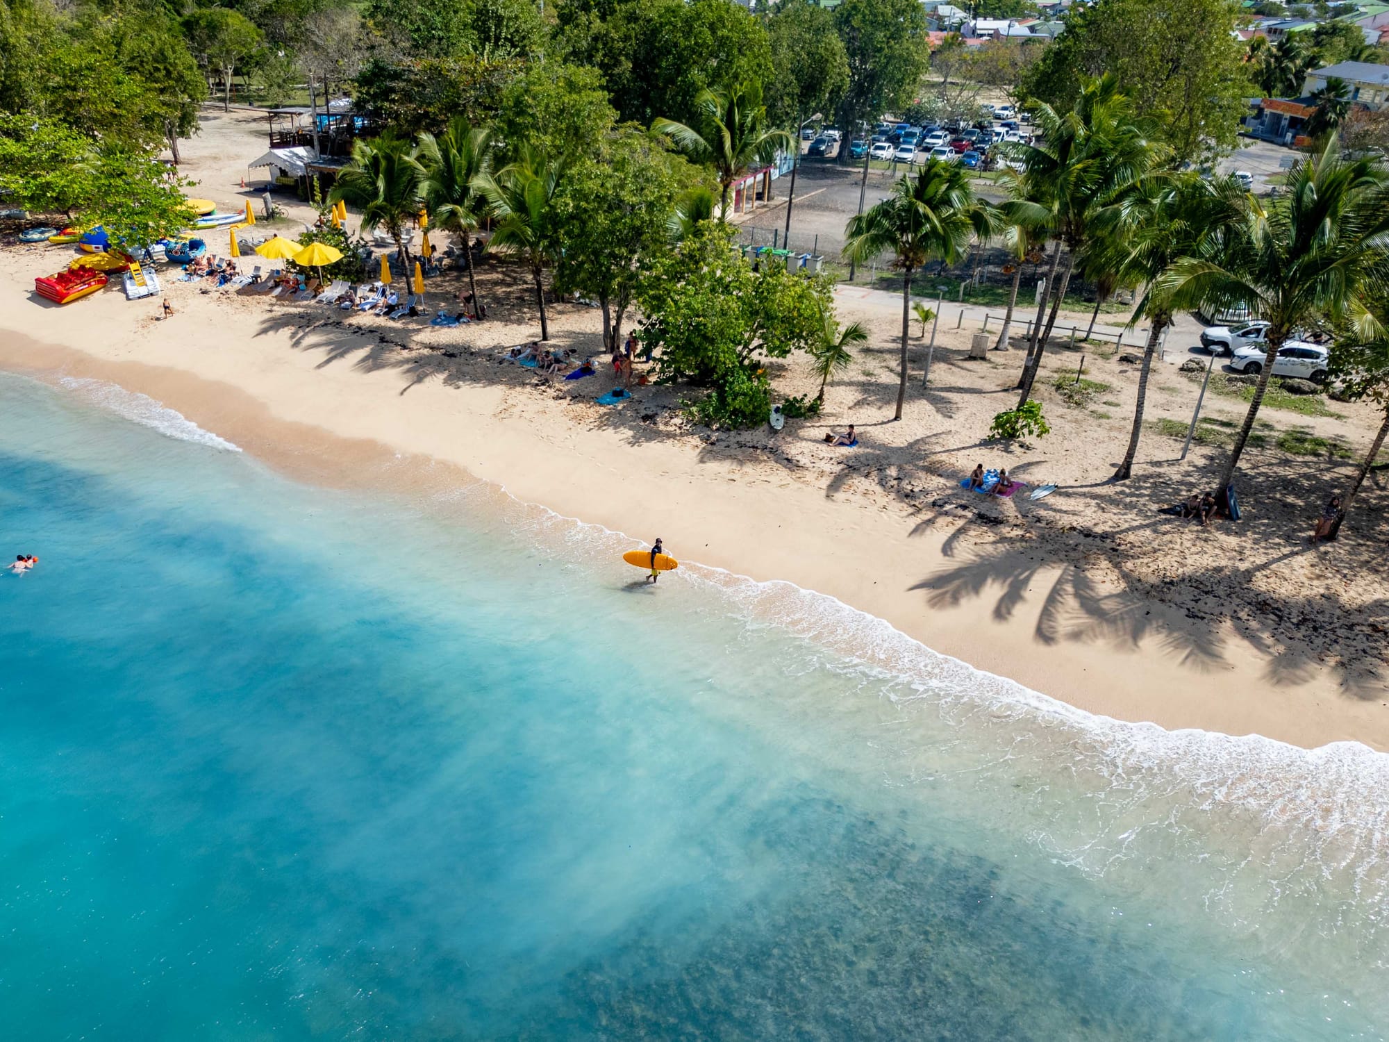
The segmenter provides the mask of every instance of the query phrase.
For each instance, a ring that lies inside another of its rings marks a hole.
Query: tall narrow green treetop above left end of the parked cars
[[[860,121],[915,100],[931,60],[926,15],[917,0],[845,0],[835,8],[835,25],[849,58],[838,124],[851,138]]]

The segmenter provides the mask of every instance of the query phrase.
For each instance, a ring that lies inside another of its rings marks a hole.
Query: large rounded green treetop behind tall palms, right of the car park
[[[1235,0],[1097,0],[1075,7],[1065,32],[1028,71],[1022,93],[1058,113],[1086,76],[1114,74],[1151,117],[1176,160],[1206,163],[1235,146],[1253,92]]]

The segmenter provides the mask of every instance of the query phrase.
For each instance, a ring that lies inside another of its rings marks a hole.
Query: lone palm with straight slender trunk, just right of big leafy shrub
[[[970,240],[989,235],[993,226],[993,211],[975,199],[964,167],[940,160],[928,160],[914,179],[903,176],[890,196],[849,218],[845,254],[861,264],[890,250],[901,271],[901,382],[893,420],[901,420],[907,397],[913,272],[928,260],[958,261]]]

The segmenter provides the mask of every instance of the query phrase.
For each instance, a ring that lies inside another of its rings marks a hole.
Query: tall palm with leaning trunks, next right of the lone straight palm
[[[1018,382],[1022,392],[1018,408],[1032,395],[1071,272],[1086,246],[1092,215],[1167,157],[1167,149],[1147,139],[1146,122],[1133,117],[1132,103],[1113,74],[1086,81],[1075,107],[1065,115],[1047,104],[1035,106],[1032,122],[1040,128],[1043,139],[1015,150],[1022,161],[1022,171],[1014,178],[1021,182],[1017,195],[1038,200],[1038,206],[1049,211],[1046,224],[1054,229],[1057,245],[1051,250],[1047,293],[1038,301],[1028,340],[1028,361]],[[1063,245],[1067,260],[1057,285]],[[1051,311],[1042,328],[1049,296]]]

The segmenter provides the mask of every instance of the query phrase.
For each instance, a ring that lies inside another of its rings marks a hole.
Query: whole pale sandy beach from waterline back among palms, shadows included
[[[208,136],[200,192],[243,201]],[[211,158],[210,158],[211,156]],[[351,224],[351,222],[350,222]],[[290,229],[292,231],[292,229]],[[1122,452],[1136,367],[1089,356],[1093,402],[1042,399],[1053,433],[1003,452],[985,443],[1008,399],[1018,353],[968,361],[968,329],[943,331],[932,388],[913,388],[890,422],[900,301],[846,289],[840,315],[872,329],[851,372],[831,385],[825,415],[786,429],[713,433],[690,427],[679,388],[639,388],[603,408],[600,375],[565,382],[504,364],[538,335],[522,272],[479,271],[485,324],[349,317],[322,304],[201,292],[167,276],[175,315],[111,289],[58,308],[32,279],[65,247],[0,251],[0,365],[47,379],[88,377],[149,395],[296,477],[340,482],[492,482],[560,514],[638,540],[663,536],[682,561],[783,579],[888,620],[925,645],[1092,713],[1167,728],[1261,734],[1303,746],[1358,741],[1389,749],[1385,685],[1383,490],[1368,486],[1358,518],[1326,547],[1306,542],[1345,458],[1290,457],[1270,446],[1246,460],[1246,521],[1208,529],[1163,515],[1203,481],[1218,450],[1145,436],[1133,481],[1107,485]],[[450,281],[451,279],[451,281]],[[461,282],[431,283],[439,299]],[[594,310],[557,303],[557,346],[599,352]],[[914,340],[920,381],[924,340]],[[1053,371],[1075,371],[1058,352]],[[814,392],[795,360],[771,367],[779,392]],[[917,382],[914,381],[914,383]],[[1164,365],[1150,415],[1189,417],[1197,385]],[[1213,415],[1243,403],[1215,399]],[[1265,415],[1275,424],[1368,443],[1370,407],[1333,417]],[[822,436],[858,427],[854,450]],[[1154,460],[1157,463],[1154,463]],[[1006,465],[1060,489],[997,500],[958,488],[974,463]],[[615,564],[615,567],[621,567]]]

